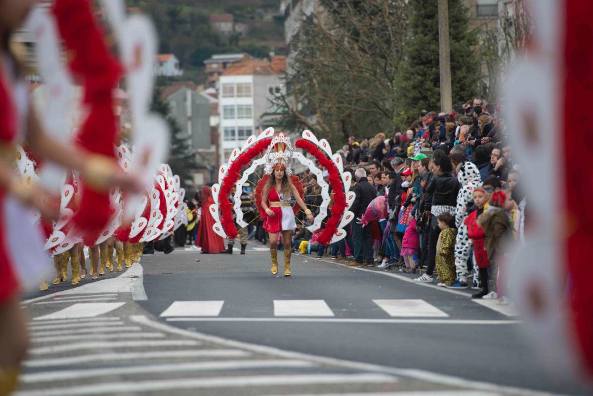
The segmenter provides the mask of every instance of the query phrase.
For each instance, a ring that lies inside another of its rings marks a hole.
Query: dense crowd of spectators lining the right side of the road
[[[380,196],[387,217],[366,226],[353,221],[346,238],[326,246],[317,241],[321,230],[309,232],[299,213],[294,252],[417,274],[419,283],[438,279],[438,286],[477,289],[475,298],[507,304],[500,257],[505,239],[522,239],[526,200],[498,106],[474,99],[452,114],[423,110],[405,132],[396,126],[387,135],[350,136],[337,152],[353,175],[356,218]],[[297,176],[317,215],[323,197],[315,175]],[[267,243],[254,206],[248,239]]]

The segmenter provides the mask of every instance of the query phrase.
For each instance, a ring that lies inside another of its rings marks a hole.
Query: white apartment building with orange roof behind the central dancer
[[[286,59],[246,60],[232,65],[219,78],[219,155],[226,164],[233,149],[261,132],[260,117],[274,95],[284,92]]]

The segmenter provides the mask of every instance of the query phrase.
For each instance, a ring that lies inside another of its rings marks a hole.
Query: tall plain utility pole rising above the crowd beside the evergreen
[[[451,93],[451,51],[449,50],[448,0],[437,0],[439,5],[439,72],[441,75],[441,111],[453,111]]]

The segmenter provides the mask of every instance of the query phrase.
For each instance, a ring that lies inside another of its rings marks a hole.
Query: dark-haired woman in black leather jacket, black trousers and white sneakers
[[[438,151],[436,151],[438,152]],[[435,152],[435,154],[436,154]],[[438,241],[441,229],[437,217],[441,213],[448,212],[455,214],[457,205],[457,193],[459,182],[452,175],[451,159],[447,155],[436,154],[432,161],[432,174],[434,177],[426,186],[426,193],[432,195],[431,202],[431,229],[428,242],[428,267],[426,273],[414,279],[415,282],[432,283],[432,273],[436,264],[436,242]]]

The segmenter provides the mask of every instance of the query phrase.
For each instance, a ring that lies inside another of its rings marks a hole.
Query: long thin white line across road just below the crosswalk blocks
[[[364,318],[167,318],[167,322],[301,322],[301,323],[376,323],[376,324],[519,324],[519,320],[473,319],[364,319]]]

